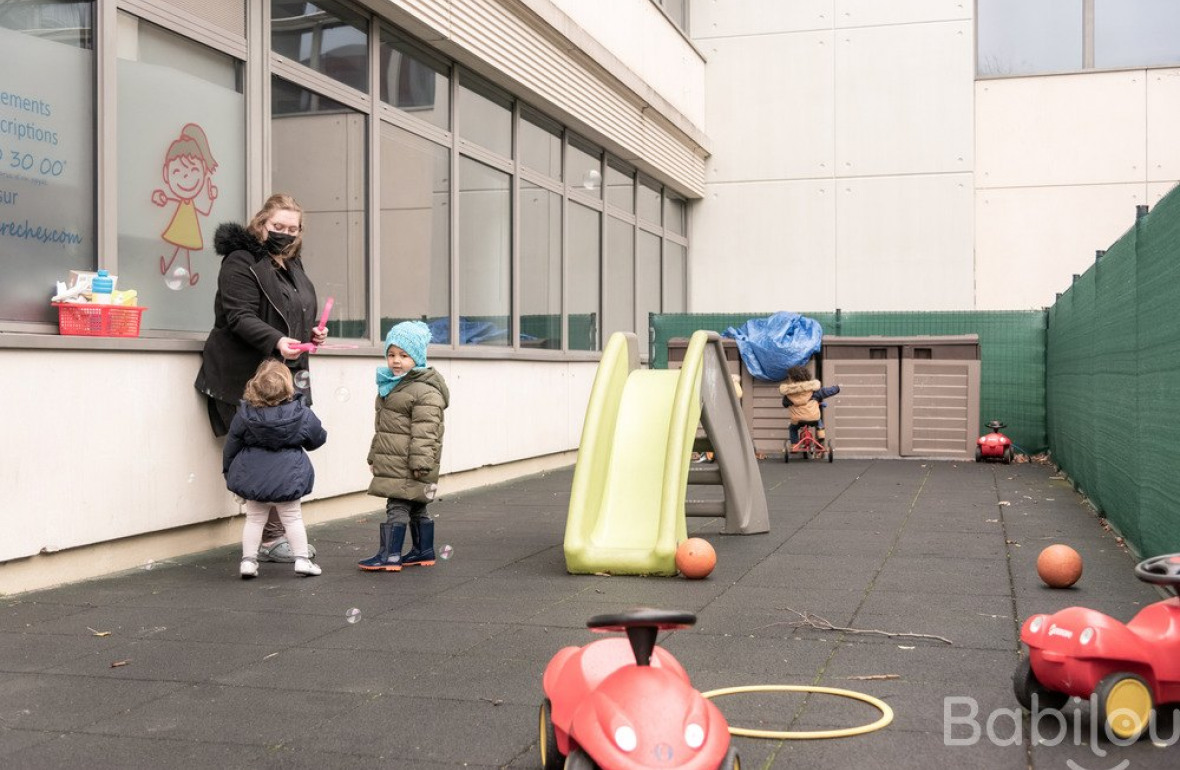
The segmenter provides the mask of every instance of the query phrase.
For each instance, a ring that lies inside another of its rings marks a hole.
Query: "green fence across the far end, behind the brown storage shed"
[[[805,312],[825,336],[979,336],[979,425],[1002,420],[1022,449],[1048,446],[1045,433],[1045,311]],[[697,329],[723,333],[771,312],[651,314],[651,367],[668,366],[668,340]]]

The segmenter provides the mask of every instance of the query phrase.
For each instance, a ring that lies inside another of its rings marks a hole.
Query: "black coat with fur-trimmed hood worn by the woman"
[[[201,355],[201,371],[194,383],[197,390],[227,403],[237,403],[245,383],[262,360],[278,357],[275,345],[280,337],[294,337],[291,314],[302,314],[299,325],[315,325],[315,287],[303,271],[301,257],[287,259],[295,284],[293,302],[284,300],[281,278],[267,248],[249,230],[225,223],[217,228],[214,248],[222,255],[214,298],[214,328]],[[310,342],[310,340],[300,340]],[[307,371],[308,354],[288,361],[291,374]],[[299,382],[299,380],[296,380]],[[310,388],[301,387],[312,404]]]

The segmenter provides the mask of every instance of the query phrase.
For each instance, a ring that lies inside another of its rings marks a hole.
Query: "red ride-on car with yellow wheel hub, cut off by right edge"
[[[1135,565],[1140,580],[1180,585],[1180,553]],[[1070,696],[1095,696],[1095,722],[1122,741],[1141,736],[1158,704],[1180,703],[1180,598],[1156,601],[1122,623],[1082,607],[1035,614],[1024,621],[1028,645],[1012,676],[1025,709],[1060,709]]]

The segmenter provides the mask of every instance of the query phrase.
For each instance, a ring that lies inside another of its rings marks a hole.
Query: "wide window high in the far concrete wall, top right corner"
[[[1180,64],[1173,0],[978,0],[976,15],[983,77]]]

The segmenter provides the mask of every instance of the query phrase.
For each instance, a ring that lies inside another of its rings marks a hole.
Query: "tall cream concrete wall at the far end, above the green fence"
[[[693,4],[713,143],[694,312],[1048,305],[1180,179],[1180,71],[976,83],[972,13]]]

